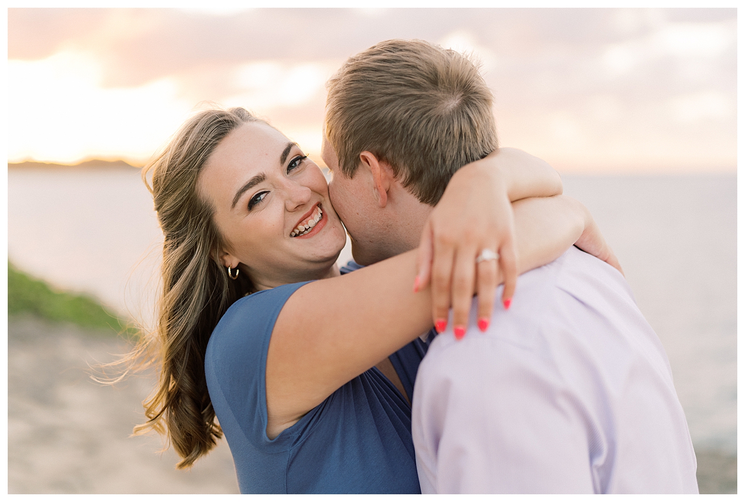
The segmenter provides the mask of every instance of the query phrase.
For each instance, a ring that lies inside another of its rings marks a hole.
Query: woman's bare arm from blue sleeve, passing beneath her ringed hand
[[[520,200],[514,212],[520,273],[554,260],[583,233],[585,215],[568,197]],[[288,299],[267,354],[270,437],[431,328],[431,293],[413,293],[415,275],[413,250],[311,282]]]

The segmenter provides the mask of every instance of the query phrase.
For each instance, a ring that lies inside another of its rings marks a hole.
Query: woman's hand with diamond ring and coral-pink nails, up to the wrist
[[[425,223],[417,255],[419,281],[432,284],[432,319],[445,331],[453,307],[455,336],[466,333],[474,290],[478,293],[478,324],[484,331],[492,317],[497,261],[476,264],[481,250],[499,254],[504,275],[504,307],[510,306],[517,280],[515,226],[507,188],[498,175],[483,169],[458,171]],[[476,289],[474,288],[476,282]]]

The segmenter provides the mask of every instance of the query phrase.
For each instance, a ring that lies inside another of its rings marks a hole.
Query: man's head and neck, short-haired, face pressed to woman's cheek
[[[497,148],[492,93],[463,54],[387,40],[329,80],[323,159],[355,259],[416,247],[458,168]]]

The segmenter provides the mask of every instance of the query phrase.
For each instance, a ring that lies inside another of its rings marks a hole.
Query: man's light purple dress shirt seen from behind
[[[419,366],[422,493],[698,493],[670,363],[618,270],[572,247],[486,333],[475,317]]]

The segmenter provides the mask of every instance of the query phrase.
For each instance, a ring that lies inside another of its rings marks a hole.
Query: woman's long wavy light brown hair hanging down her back
[[[261,120],[243,108],[199,112],[142,172],[165,241],[156,327],[127,356],[141,366],[160,366],[157,386],[142,403],[148,421],[134,433],[167,434],[182,459],[177,468],[190,467],[222,437],[207,392],[204,355],[227,308],[253,288],[244,274],[228,279],[219,258],[223,238],[197,181],[221,140],[256,121]]]

